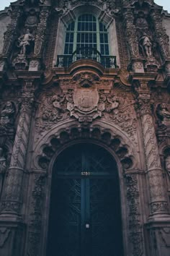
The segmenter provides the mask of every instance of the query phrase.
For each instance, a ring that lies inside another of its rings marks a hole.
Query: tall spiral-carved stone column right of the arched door
[[[140,81],[138,103],[143,132],[143,145],[146,156],[146,171],[150,194],[150,219],[169,218],[168,202],[164,189],[164,177],[158,144],[151,113],[151,95],[148,81]]]

